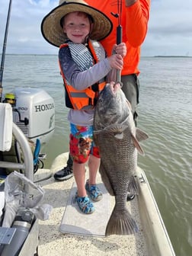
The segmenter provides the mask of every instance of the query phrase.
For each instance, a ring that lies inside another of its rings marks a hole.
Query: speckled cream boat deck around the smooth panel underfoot
[[[62,233],[59,231],[59,226],[62,222],[63,213],[66,210],[70,191],[74,183],[74,178],[68,181],[55,181],[50,174],[55,173],[66,164],[68,154],[59,155],[53,162],[51,170],[37,171],[34,181],[40,184],[46,191],[44,203],[49,203],[53,206],[50,214],[50,219],[46,221],[39,220],[39,235],[40,241],[38,245],[39,256],[75,256],[75,255],[129,255],[129,256],[149,256],[146,251],[146,242],[142,232],[142,224],[139,219],[138,198],[127,202],[128,209],[136,220],[139,227],[139,232],[136,235],[110,235],[107,237],[92,236],[92,235],[73,235]],[[47,177],[44,181],[39,181]],[[50,178],[49,178],[50,177]],[[101,181],[98,175],[98,182]],[[111,210],[114,205],[114,197],[110,197]],[[94,215],[97,214],[93,213]],[[81,216],[81,214],[79,214]],[[93,226],[99,226],[95,221]],[[154,256],[154,255],[153,255]]]

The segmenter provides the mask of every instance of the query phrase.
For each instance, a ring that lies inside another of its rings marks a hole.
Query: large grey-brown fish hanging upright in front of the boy
[[[142,152],[138,140],[147,138],[146,133],[136,128],[130,104],[120,86],[113,82],[107,84],[94,112],[94,142],[101,155],[99,172],[107,191],[115,197],[106,235],[129,235],[138,231],[126,208],[126,197],[128,191],[138,194],[134,177],[137,150]]]

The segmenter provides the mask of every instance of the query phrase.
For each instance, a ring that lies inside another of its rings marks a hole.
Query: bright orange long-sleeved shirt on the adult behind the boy
[[[107,56],[111,55],[112,47],[116,43],[118,18],[115,18],[111,12],[117,14],[117,0],[85,0],[88,5],[104,12],[114,24],[110,35],[101,40],[101,44],[107,51]],[[120,1],[119,1],[120,2]],[[116,4],[115,4],[116,3]],[[126,43],[127,54],[124,57],[124,66],[122,75],[139,74],[140,46],[145,40],[147,26],[149,21],[150,0],[138,0],[130,7],[125,6],[125,0],[122,0],[122,20],[123,27],[122,42]]]

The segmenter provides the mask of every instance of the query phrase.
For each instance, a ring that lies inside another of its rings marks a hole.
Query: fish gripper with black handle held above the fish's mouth
[[[118,18],[118,25],[117,25],[117,45],[122,43],[122,34],[123,34],[123,27],[121,26],[121,19],[122,19],[122,0],[117,0],[117,14],[111,12],[115,18]],[[117,82],[120,82],[120,70],[117,70]]]

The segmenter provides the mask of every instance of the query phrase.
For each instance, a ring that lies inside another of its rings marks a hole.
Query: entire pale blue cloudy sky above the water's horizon
[[[8,4],[9,0],[0,0],[0,53]],[[43,39],[40,24],[43,17],[58,4],[59,0],[12,0],[6,53],[57,54],[58,48]],[[152,0],[142,56],[158,55],[192,56],[191,0]]]

